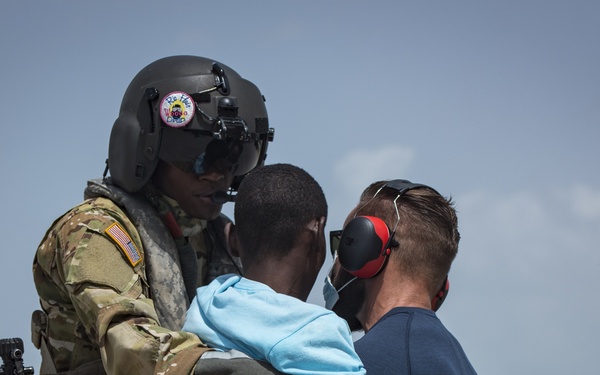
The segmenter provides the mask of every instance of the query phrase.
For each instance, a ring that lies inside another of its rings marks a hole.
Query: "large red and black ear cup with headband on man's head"
[[[408,180],[391,180],[385,183],[373,195],[373,198],[365,203],[357,212],[367,206],[379,194],[383,188],[391,188],[397,191],[396,201],[407,191],[417,188],[429,188],[427,185],[414,184]],[[433,189],[432,189],[433,190]],[[435,191],[435,190],[434,190]],[[396,205],[396,214],[398,206]],[[357,216],[352,219],[342,232],[338,257],[341,266],[354,276],[370,278],[379,273],[383,268],[388,255],[391,252],[390,245],[393,235],[400,222],[390,231],[385,222],[374,216]]]

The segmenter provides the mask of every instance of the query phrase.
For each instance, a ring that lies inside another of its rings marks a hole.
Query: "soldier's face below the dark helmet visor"
[[[159,162],[154,182],[168,197],[177,201],[188,215],[201,220],[219,216],[222,204],[212,197],[217,191],[227,191],[233,182],[230,168],[218,161],[205,173],[183,171],[163,161]]]

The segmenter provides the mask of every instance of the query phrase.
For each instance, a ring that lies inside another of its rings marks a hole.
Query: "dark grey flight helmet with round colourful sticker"
[[[115,185],[141,189],[159,159],[198,174],[225,159],[236,176],[262,165],[273,140],[264,97],[228,66],[197,56],[172,56],[131,81],[108,147]]]

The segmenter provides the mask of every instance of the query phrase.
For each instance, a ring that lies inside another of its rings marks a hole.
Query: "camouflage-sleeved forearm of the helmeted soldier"
[[[169,373],[190,374],[207,350],[196,335],[161,327],[152,300],[143,296],[133,299],[110,289],[87,288],[77,300],[79,315],[89,322],[86,330],[96,332],[108,374],[152,374],[169,368]]]

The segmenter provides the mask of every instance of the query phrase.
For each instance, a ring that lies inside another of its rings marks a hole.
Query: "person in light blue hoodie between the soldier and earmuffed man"
[[[228,225],[244,276],[199,288],[183,329],[281,373],[364,374],[346,322],[306,303],[325,260],[326,216],[325,195],[303,169],[274,164],[250,172],[239,187],[235,225]],[[213,368],[219,356],[209,354],[199,368]]]

